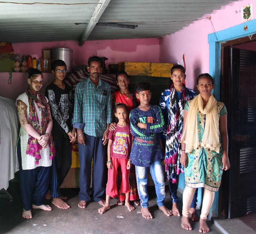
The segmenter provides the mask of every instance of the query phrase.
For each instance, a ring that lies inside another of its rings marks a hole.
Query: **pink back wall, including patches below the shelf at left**
[[[77,65],[87,65],[90,56],[107,57],[106,64],[118,62],[159,62],[159,39],[130,39],[130,40],[106,40],[86,41],[82,47],[77,41],[33,42],[14,43],[14,53],[22,55],[30,54],[32,57],[41,58],[42,50],[48,48],[66,47],[73,49],[73,68]],[[16,99],[19,94],[25,92],[27,73],[13,73],[12,83],[8,84],[9,73],[0,73],[0,96]],[[53,80],[51,73],[44,73],[44,86],[42,92]]]

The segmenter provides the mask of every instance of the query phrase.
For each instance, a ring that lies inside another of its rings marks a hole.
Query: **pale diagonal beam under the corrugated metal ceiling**
[[[84,42],[87,40],[87,38],[90,36],[90,33],[92,32],[95,25],[98,23],[98,20],[100,19],[104,10],[108,7],[109,2],[110,0],[99,0],[99,3],[97,4],[94,13],[92,14],[92,17],[82,35],[82,38],[79,42],[79,46],[82,46]]]

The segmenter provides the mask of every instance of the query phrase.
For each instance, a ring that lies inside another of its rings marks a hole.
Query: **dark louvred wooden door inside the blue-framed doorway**
[[[231,46],[228,73],[228,217],[236,218],[256,211],[256,52]]]

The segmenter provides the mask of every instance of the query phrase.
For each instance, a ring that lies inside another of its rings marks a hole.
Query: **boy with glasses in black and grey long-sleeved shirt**
[[[63,201],[67,197],[61,195],[60,186],[71,167],[71,142],[77,138],[77,132],[72,127],[73,95],[71,87],[63,82],[67,74],[67,65],[63,60],[53,62],[51,73],[54,74],[54,81],[46,87],[45,95],[49,99],[53,119],[51,134],[56,156],[52,162],[50,191],[46,198],[51,198],[51,203],[59,209],[69,209],[70,206]]]

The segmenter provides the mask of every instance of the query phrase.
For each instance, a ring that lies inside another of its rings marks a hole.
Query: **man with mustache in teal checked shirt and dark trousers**
[[[93,56],[88,60],[90,79],[79,82],[75,89],[73,126],[77,128],[80,160],[79,203],[86,208],[91,200],[91,164],[93,158],[92,198],[104,206],[105,171],[107,161],[108,127],[112,122],[111,95],[108,83],[100,79],[102,60]]]

